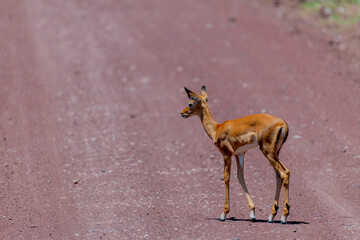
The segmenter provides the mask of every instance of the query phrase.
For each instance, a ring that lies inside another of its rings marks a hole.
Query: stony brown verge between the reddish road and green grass
[[[301,4],[302,0],[279,1],[258,0],[262,5],[275,8],[276,17],[290,22],[290,31],[294,34],[301,33],[305,28],[307,34],[314,32],[323,33],[325,44],[336,50],[342,57],[346,56],[347,68],[354,72],[360,71],[360,22],[350,21],[360,10],[360,5],[344,4],[346,1],[338,1],[338,8],[344,7],[344,12],[338,9],[333,12],[338,20],[324,17],[320,10],[306,10]],[[308,1],[310,2],[310,1]],[[326,2],[323,1],[324,5]],[[351,1],[349,1],[351,2]],[[311,26],[311,27],[309,27]]]

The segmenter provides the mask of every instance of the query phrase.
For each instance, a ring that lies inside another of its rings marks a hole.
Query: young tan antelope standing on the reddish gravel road
[[[281,186],[284,186],[284,211],[281,223],[286,223],[290,210],[290,171],[279,160],[280,149],[285,143],[289,131],[286,122],[268,114],[254,114],[219,124],[210,113],[205,86],[201,88],[200,95],[193,93],[187,88],[185,88],[185,91],[190,101],[182,110],[181,116],[188,118],[191,115],[198,115],[205,132],[224,158],[225,206],[220,221],[225,221],[226,215],[230,212],[229,184],[232,156],[236,158],[237,178],[248,201],[250,219],[252,221],[256,220],[255,205],[244,180],[244,155],[249,149],[258,147],[270,161],[276,176],[275,200],[268,221],[274,221],[279,208],[278,202]]]

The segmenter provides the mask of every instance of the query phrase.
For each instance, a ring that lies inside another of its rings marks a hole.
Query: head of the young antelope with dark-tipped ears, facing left
[[[206,87],[203,86],[200,91],[200,95],[193,93],[189,89],[185,88],[185,91],[189,97],[189,102],[187,106],[181,111],[181,116],[183,118],[188,118],[191,115],[200,115],[202,109],[202,103],[207,102],[208,97],[206,93]]]

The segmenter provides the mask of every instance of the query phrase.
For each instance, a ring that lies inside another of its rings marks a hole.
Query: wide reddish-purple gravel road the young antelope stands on
[[[359,75],[322,33],[250,1],[0,5],[1,239],[360,239]],[[221,156],[179,115],[202,85],[218,122],[288,122],[289,224],[256,150],[259,221],[234,171],[218,221]]]

